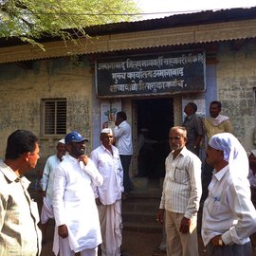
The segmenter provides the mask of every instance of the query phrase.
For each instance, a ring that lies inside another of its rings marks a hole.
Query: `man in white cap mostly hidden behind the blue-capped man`
[[[65,154],[64,138],[60,139],[56,146],[56,155],[50,155],[46,160],[46,165],[41,179],[41,186],[43,190],[43,207],[41,211],[42,224],[42,244],[46,243],[46,229],[50,218],[54,218],[52,209],[52,190],[53,190],[53,176],[56,167],[63,160]]]

